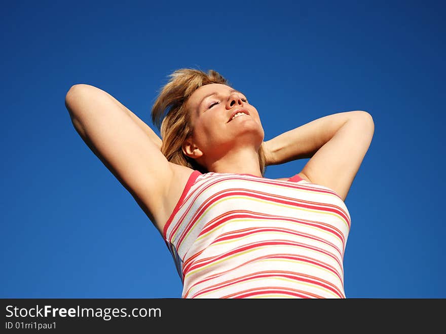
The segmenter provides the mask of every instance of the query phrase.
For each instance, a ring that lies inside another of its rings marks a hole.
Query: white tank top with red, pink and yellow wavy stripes
[[[299,175],[194,171],[163,237],[182,298],[345,298],[344,201]]]

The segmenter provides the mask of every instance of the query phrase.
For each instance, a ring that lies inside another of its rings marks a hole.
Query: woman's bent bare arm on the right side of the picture
[[[311,158],[301,176],[345,200],[375,130],[367,112],[325,116],[264,143],[267,165]]]

